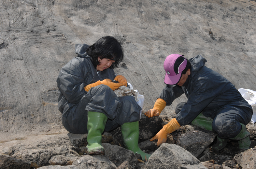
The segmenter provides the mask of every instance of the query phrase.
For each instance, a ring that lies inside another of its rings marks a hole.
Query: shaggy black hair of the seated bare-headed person
[[[110,68],[118,67],[118,64],[124,58],[124,51],[121,44],[117,41],[116,38],[112,36],[103,36],[97,40],[93,45],[87,48],[86,53],[91,57],[91,61],[95,65],[99,65],[98,57],[100,59],[111,59],[115,62],[111,65]]]

